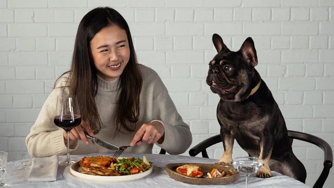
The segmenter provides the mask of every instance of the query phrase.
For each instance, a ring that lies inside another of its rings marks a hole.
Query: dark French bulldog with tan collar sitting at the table
[[[230,51],[218,34],[212,41],[218,53],[209,63],[206,82],[220,97],[217,119],[224,154],[218,164],[231,164],[235,139],[249,156],[263,160],[257,177],[269,178],[273,170],[305,183],[306,170],[292,152],[283,115],[254,68],[252,38],[238,51]]]

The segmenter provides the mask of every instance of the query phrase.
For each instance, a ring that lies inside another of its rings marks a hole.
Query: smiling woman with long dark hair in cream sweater
[[[137,63],[129,27],[112,8],[99,7],[82,18],[71,69],[55,82],[26,138],[33,157],[66,154],[67,135],[53,123],[59,95],[77,95],[83,120],[71,130],[71,154],[110,152],[91,144],[84,131],[118,146],[142,139],[128,153],[152,153],[155,143],[181,154],[191,144],[189,126],[157,73]]]

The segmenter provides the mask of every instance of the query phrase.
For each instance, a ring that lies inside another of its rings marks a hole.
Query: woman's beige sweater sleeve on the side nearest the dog
[[[161,79],[157,76],[154,82],[152,118],[164,126],[164,141],[157,145],[169,154],[182,154],[192,143],[190,128],[177,112]]]

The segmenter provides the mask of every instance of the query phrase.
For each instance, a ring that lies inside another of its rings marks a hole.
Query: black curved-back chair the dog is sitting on
[[[310,135],[307,133],[301,133],[299,131],[288,130],[288,136],[289,136],[291,145],[292,145],[293,139],[297,139],[297,140],[302,140],[302,141],[317,145],[323,150],[324,168],[318,180],[313,185],[313,187],[322,187],[328,177],[329,170],[333,165],[333,153],[332,153],[332,149],[330,145],[326,141],[324,141],[323,139],[317,136]],[[207,153],[207,148],[219,142],[221,142],[220,135],[215,135],[206,140],[203,140],[202,142],[200,142],[199,144],[197,144],[196,146],[190,149],[189,155],[194,157],[198,155],[199,153],[202,153],[202,157],[209,158],[208,153]]]

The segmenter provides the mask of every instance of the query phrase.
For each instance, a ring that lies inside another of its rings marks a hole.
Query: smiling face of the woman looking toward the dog
[[[106,81],[115,80],[130,58],[125,30],[115,24],[101,29],[90,41],[90,51],[98,75]]]

